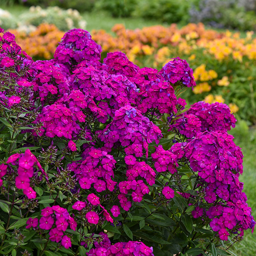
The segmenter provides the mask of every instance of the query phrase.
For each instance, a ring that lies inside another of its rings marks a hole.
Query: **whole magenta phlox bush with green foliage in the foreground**
[[[4,255],[227,255],[254,229],[225,104],[178,98],[185,60],[161,71],[82,29],[51,60],[0,41],[0,251]],[[224,241],[226,241],[224,243]]]

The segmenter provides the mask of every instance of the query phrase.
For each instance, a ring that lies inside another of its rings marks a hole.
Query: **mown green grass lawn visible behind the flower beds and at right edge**
[[[4,7],[14,16],[18,16],[20,12],[28,10],[24,6]],[[82,13],[82,17],[87,21],[87,30],[104,29],[111,32],[111,28],[122,23],[127,29],[143,28],[144,26],[152,26],[160,24],[157,20],[144,20],[141,18],[113,18],[107,12],[91,12]],[[168,25],[168,24],[162,24]],[[244,34],[244,32],[242,33]],[[248,204],[252,208],[252,214],[256,217],[256,129],[248,130],[248,127],[240,122],[230,133],[234,135],[236,144],[242,148],[244,154],[244,173],[240,177],[240,181],[244,183],[244,192],[248,197]],[[234,245],[230,252],[236,256],[255,256],[256,255],[256,232],[246,231],[244,240],[240,244]]]

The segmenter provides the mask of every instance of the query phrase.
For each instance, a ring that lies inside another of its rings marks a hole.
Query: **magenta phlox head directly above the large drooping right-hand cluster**
[[[236,118],[230,113],[229,107],[224,103],[196,102],[186,111],[187,114],[195,115],[201,121],[201,132],[204,131],[229,131],[231,126],[236,125]]]

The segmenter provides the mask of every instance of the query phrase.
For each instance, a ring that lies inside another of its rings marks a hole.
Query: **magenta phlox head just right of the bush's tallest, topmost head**
[[[106,65],[105,69],[114,75],[121,74],[127,77],[133,77],[139,69],[122,52],[107,53],[107,57],[103,62]]]

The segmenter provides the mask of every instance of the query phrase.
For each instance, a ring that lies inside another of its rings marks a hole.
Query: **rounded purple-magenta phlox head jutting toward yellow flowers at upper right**
[[[193,70],[186,60],[179,57],[173,58],[165,64],[159,72],[165,81],[175,84],[180,82],[181,86],[194,87],[196,85]]]

